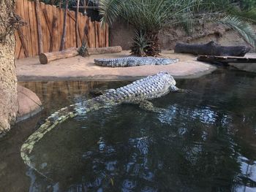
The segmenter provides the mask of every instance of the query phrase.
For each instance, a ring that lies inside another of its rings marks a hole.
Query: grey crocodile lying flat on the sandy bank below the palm
[[[154,57],[124,57],[124,58],[96,58],[94,63],[99,66],[143,66],[143,65],[168,65],[178,62],[178,58],[154,58]]]

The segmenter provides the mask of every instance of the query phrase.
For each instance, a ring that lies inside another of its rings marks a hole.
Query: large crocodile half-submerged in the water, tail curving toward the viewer
[[[23,158],[25,164],[39,172],[32,164],[29,154],[33,150],[34,145],[59,123],[62,123],[68,118],[74,118],[77,115],[84,115],[90,111],[100,110],[122,103],[139,104],[145,110],[162,112],[162,109],[154,107],[148,100],[164,96],[170,91],[179,91],[176,88],[176,81],[168,72],[159,72],[158,74],[132,82],[124,87],[110,89],[105,94],[93,99],[64,107],[50,115],[45,120],[45,123],[26,139],[26,142],[23,143],[20,149],[21,158]],[[39,174],[42,173],[39,172]],[[42,175],[45,176],[44,174]]]

